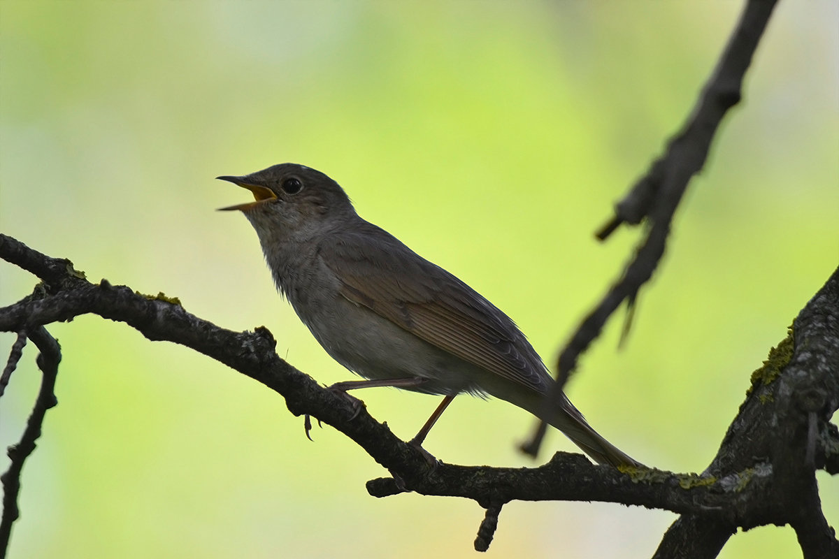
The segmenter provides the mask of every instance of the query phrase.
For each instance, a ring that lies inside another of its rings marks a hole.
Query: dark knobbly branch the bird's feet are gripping
[[[8,237],[3,239],[0,236],[0,241],[4,241],[4,244],[0,243],[0,257],[5,257],[3,246],[14,245],[16,254],[24,249],[29,250]],[[32,253],[29,256],[39,254],[35,251]],[[48,258],[43,255],[39,257]],[[63,282],[63,279],[58,279],[59,283]],[[432,468],[422,453],[400,441],[386,425],[376,422],[364,409],[358,411],[357,401],[344,393],[321,387],[310,376],[281,360],[274,352],[274,338],[267,329],[260,328],[253,333],[221,329],[187,313],[180,304],[172,303],[172,299],[162,295],[144,296],[128,287],[112,286],[104,280],[98,285],[86,280],[74,281],[72,285],[55,294],[26,298],[9,307],[0,308],[0,330],[34,329],[42,324],[69,320],[83,313],[95,313],[128,323],[148,339],[183,344],[279,392],[295,415],[309,414],[336,427],[398,476],[403,489],[425,494],[457,495],[475,499],[487,506],[495,505],[496,500],[508,502],[513,499],[556,498],[612,500],[676,511],[717,506],[717,501],[711,501],[711,504],[690,508],[696,496],[685,498],[679,495],[683,490],[679,480],[690,479],[690,476],[685,478],[662,474],[663,477],[654,478],[658,489],[650,492],[649,484],[645,486],[635,483],[614,468],[594,466],[579,455],[564,455],[566,458],[557,458],[552,462],[551,468],[562,468],[563,472],[568,473],[561,475],[550,468],[515,470],[448,465]],[[623,481],[618,483],[616,480],[621,478]],[[648,476],[644,479],[649,482],[652,478]],[[623,493],[610,493],[602,489],[613,488],[616,484],[623,487]],[[490,489],[493,485],[498,488]],[[377,485],[373,484],[372,487]],[[379,494],[382,494],[381,490]],[[625,496],[621,500],[616,495]]]

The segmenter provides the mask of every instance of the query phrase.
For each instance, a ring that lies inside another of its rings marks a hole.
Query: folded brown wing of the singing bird
[[[320,252],[352,303],[484,370],[546,390],[550,375],[513,321],[388,232],[365,221],[360,231],[330,236]]]

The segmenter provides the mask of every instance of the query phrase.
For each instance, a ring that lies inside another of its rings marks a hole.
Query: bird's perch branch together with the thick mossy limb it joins
[[[12,250],[7,251],[8,247]],[[0,257],[5,258],[7,252],[25,253],[27,258],[23,261],[38,270],[52,269],[50,261],[58,261],[0,235]],[[195,349],[279,392],[295,415],[310,414],[364,448],[393,475],[393,479],[368,482],[367,490],[373,496],[411,490],[475,500],[487,509],[476,540],[478,548],[485,549],[492,540],[504,504],[512,500],[555,499],[640,505],[685,515],[665,536],[659,556],[669,556],[671,551],[685,546],[687,540],[676,537],[680,534],[701,535],[702,541],[709,542],[703,545],[710,553],[716,546],[710,542],[722,546],[737,526],[749,528],[769,523],[797,526],[802,546],[821,549],[832,545],[826,538],[829,526],[821,516],[818,494],[811,480],[815,479],[815,468],[829,463],[836,438],[815,435],[802,438],[800,429],[805,426],[805,432],[816,434],[835,435],[836,432],[827,420],[839,402],[837,373],[830,370],[830,364],[839,360],[836,349],[839,348],[836,341],[839,271],[796,319],[795,344],[791,337],[784,340],[773,350],[764,367],[753,375],[753,387],[740,415],[732,423],[714,463],[701,476],[648,468],[619,471],[593,465],[579,454],[568,453],[557,453],[539,468],[465,467],[444,463],[432,466],[422,453],[400,441],[363,407],[358,409],[355,399],[321,387],[310,376],[281,360],[274,352],[274,338],[267,329],[232,332],[187,313],[180,303],[162,294],[145,296],[128,287],[112,286],[105,280],[94,285],[66,266],[61,273],[64,276],[59,274],[52,281],[67,287],[36,290],[34,295],[0,308],[0,330],[34,332],[47,323],[95,313],[128,323],[148,339],[168,340]],[[808,360],[812,359],[819,360],[821,365],[816,367],[816,376],[805,376],[803,373],[810,367]],[[799,370],[801,374],[790,372]],[[805,390],[806,387],[810,388]],[[797,396],[784,400],[783,394]],[[788,401],[794,405],[787,405]],[[801,475],[800,461],[794,460],[790,465],[770,459],[777,434],[765,432],[772,419],[767,414],[774,414],[776,424],[792,426],[784,445],[804,441],[796,455],[812,457],[804,461],[805,475]],[[764,458],[758,458],[755,463],[754,457]],[[790,477],[795,492],[784,493],[786,500],[778,500],[779,488],[784,485],[779,483],[776,470],[790,469],[795,472]],[[806,510],[791,506],[802,488],[807,490],[807,499],[796,502],[796,506],[807,507]],[[797,512],[789,513],[791,510]],[[680,529],[680,524],[685,529]]]

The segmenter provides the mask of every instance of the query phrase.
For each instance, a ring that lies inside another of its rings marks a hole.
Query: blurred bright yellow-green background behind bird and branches
[[[545,360],[623,266],[638,230],[592,231],[690,111],[737,2],[0,2],[0,230],[92,281],[177,296],[229,329],[265,325],[317,380],[351,375],[277,297],[256,235],[214,180],[318,168],[359,213],[503,308]],[[836,267],[835,2],[782,2],[745,102],[675,220],[625,349],[620,318],[571,399],[613,443],[699,471],[748,378]],[[0,264],[0,304],[34,278]],[[413,494],[330,427],[252,380],[121,323],[50,331],[64,349],[23,474],[14,557],[472,556],[482,510]],[[13,337],[0,336],[3,355]],[[19,437],[34,349],[0,402]],[[404,438],[437,399],[362,395]],[[459,398],[426,448],[529,465],[534,420]],[[541,459],[574,450],[552,433]],[[2,466],[5,469],[5,465]],[[829,520],[839,487],[820,476]],[[675,515],[513,503],[487,556],[650,556]],[[738,534],[722,556],[791,557],[795,534]]]

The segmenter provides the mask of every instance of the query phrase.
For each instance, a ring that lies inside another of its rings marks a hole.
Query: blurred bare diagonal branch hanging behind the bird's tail
[[[743,77],[746,75],[775,0],[748,0],[717,68],[708,79],[699,100],[682,127],[670,140],[663,156],[655,160],[649,171],[638,180],[615,210],[615,217],[597,233],[605,240],[622,223],[637,225],[648,220],[646,236],[638,244],[635,255],[623,273],[612,284],[601,301],[586,315],[571,339],[561,350],[556,363],[556,384],[545,397],[545,416],[560,405],[562,389],[575,370],[580,355],[600,335],[603,326],[624,301],[628,304],[628,331],[638,291],[649,281],[659,265],[670,234],[670,223],[685,194],[690,179],[705,165],[711,142],[722,119],[742,97]],[[545,422],[539,422],[526,453],[535,456],[545,435]]]

